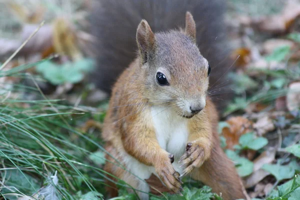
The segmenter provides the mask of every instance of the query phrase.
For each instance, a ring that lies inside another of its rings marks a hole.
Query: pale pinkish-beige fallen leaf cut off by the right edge
[[[300,107],[300,81],[292,82],[288,86],[286,106],[289,111],[297,111]]]

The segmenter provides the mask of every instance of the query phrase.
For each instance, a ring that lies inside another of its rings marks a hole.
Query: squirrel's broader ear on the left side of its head
[[[154,50],[155,38],[148,22],[144,19],[137,26],[136,42],[142,62],[145,63],[147,61],[147,54]]]

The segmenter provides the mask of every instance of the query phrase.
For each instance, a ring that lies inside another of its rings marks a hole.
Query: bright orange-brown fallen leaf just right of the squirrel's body
[[[252,130],[252,122],[242,116],[230,117],[226,122],[229,127],[223,127],[222,135],[226,138],[226,148],[233,149],[233,146],[238,144],[239,137]]]

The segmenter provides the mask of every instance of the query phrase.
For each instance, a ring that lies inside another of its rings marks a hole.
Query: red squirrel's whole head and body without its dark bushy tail
[[[142,19],[135,38],[137,56],[112,87],[102,129],[110,196],[117,195],[119,178],[148,199],[145,179],[154,174],[175,193],[188,175],[225,200],[246,198],[220,147],[218,114],[207,93],[214,71],[197,46],[192,14],[185,13],[184,29],[155,33]]]

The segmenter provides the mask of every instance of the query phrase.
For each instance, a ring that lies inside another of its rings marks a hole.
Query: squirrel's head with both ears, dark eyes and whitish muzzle
[[[136,32],[143,97],[187,118],[204,108],[210,73],[195,38],[196,25],[189,12],[184,30],[154,34],[141,20]]]

